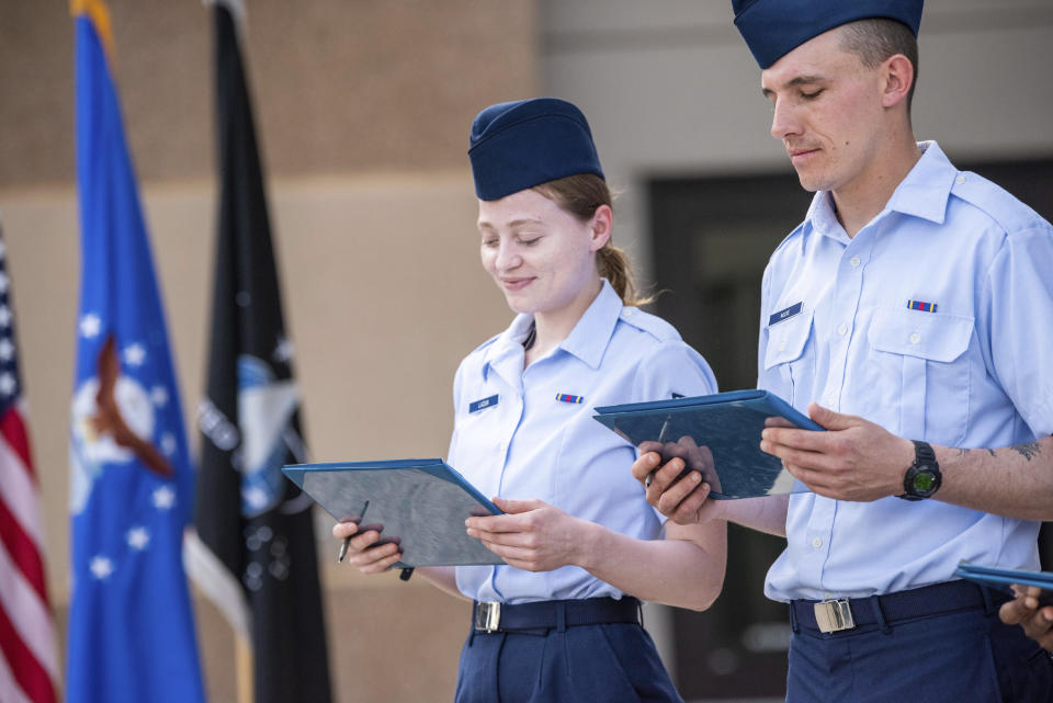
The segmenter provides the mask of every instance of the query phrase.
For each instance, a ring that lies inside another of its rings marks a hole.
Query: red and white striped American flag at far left
[[[0,701],[54,703],[55,626],[44,579],[37,480],[22,421],[13,317],[0,237]]]

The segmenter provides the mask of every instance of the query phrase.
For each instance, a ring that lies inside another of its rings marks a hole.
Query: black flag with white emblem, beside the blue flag
[[[222,0],[215,27],[219,223],[191,571],[248,634],[257,703],[328,703],[312,501],[280,470],[305,461],[299,396],[238,26]]]

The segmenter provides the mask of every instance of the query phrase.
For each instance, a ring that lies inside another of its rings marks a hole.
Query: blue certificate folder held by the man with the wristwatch
[[[807,490],[779,458],[760,451],[760,433],[766,424],[823,430],[767,390],[633,402],[596,412],[596,420],[631,444],[653,443],[643,449],[659,452],[664,462],[683,458],[688,469],[702,474],[716,500]]]

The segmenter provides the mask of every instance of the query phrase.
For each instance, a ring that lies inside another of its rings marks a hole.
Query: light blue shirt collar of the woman
[[[622,298],[614,292],[607,279],[603,279],[599,295],[586,309],[567,338],[552,353],[556,354],[564,351],[577,356],[589,367],[599,368],[621,314]],[[513,378],[522,376],[523,342],[530,335],[533,322],[533,315],[517,315],[508,329],[501,332],[490,344],[483,361],[484,379],[490,370],[497,372],[509,383],[512,383]]]

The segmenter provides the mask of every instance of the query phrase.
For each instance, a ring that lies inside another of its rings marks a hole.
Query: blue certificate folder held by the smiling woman
[[[282,473],[338,521],[397,542],[395,566],[505,563],[464,526],[471,515],[501,511],[441,458],[297,464]]]

